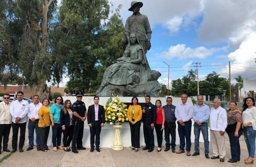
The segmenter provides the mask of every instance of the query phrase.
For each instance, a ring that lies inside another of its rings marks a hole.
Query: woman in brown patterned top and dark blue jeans
[[[231,159],[230,163],[240,161],[240,143],[239,138],[243,134],[242,113],[237,109],[236,102],[230,102],[230,111],[227,114],[228,126],[226,132],[229,136]]]

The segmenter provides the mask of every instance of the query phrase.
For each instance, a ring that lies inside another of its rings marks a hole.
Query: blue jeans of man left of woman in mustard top
[[[28,128],[29,147],[33,148],[33,146],[34,146],[34,131],[36,134],[36,139],[35,139],[36,147],[40,147],[40,135],[39,135],[39,128],[38,128],[38,120],[36,120],[36,122],[33,123],[29,119],[27,128]]]

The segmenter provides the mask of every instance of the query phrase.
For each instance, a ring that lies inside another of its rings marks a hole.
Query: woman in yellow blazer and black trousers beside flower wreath
[[[131,128],[132,150],[135,149],[135,152],[138,152],[138,148],[140,148],[142,109],[141,106],[138,105],[137,97],[132,98],[132,105],[128,108],[127,117]]]

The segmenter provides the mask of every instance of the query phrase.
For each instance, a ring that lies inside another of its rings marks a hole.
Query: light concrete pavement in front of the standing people
[[[27,129],[26,129],[27,130]],[[84,136],[89,137],[89,136]],[[9,137],[8,148],[11,150],[11,138],[12,130]],[[24,152],[13,153],[8,159],[0,163],[0,166],[41,166],[41,167],[54,167],[54,166],[106,166],[106,167],[122,167],[122,166],[168,166],[168,167],[180,167],[180,166],[245,166],[244,158],[248,157],[248,152],[246,144],[244,142],[244,137],[240,137],[241,145],[241,161],[237,163],[228,163],[227,161],[231,158],[229,138],[225,134],[226,139],[226,157],[225,162],[220,162],[219,159],[212,160],[206,159],[204,157],[204,146],[200,143],[200,155],[195,157],[188,157],[185,153],[176,154],[171,151],[164,152],[165,147],[162,148],[161,152],[156,152],[155,150],[151,153],[139,149],[138,152],[131,151],[131,148],[124,148],[121,151],[114,151],[112,149],[101,148],[101,152],[90,152],[89,148],[86,150],[78,150],[78,154],[72,152],[65,152],[63,150],[58,150],[57,152],[51,150],[48,152],[37,151],[34,147],[31,151],[26,151],[28,146],[24,146]],[[28,140],[28,135],[26,132],[26,140]],[[101,136],[101,140],[104,136]],[[163,141],[164,142],[164,141]],[[193,142],[193,141],[192,141]],[[141,143],[142,145],[144,143]],[[179,145],[176,146],[176,151],[179,149]],[[209,156],[212,156],[211,146],[209,146]],[[191,147],[191,154],[194,153],[194,144]],[[7,155],[8,153],[2,152],[0,158]],[[255,166],[255,164],[251,165]]]

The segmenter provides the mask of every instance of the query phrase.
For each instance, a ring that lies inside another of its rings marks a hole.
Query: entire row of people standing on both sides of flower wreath
[[[17,93],[17,100],[9,102],[10,95],[3,95],[3,102],[0,103],[0,154],[3,151],[16,152],[18,131],[20,129],[20,138],[18,149],[23,152],[25,142],[26,123],[28,118],[28,139],[30,151],[34,146],[34,131],[36,133],[36,148],[38,151],[47,152],[50,150],[47,146],[50,126],[52,126],[53,150],[58,149],[78,153],[77,150],[85,150],[83,147],[83,129],[84,121],[87,118],[90,127],[90,152],[100,152],[100,132],[105,123],[104,107],[99,105],[99,97],[93,98],[94,104],[88,107],[88,113],[82,94],[76,94],[77,101],[71,104],[70,100],[63,103],[63,98],[57,96],[52,106],[47,98],[39,102],[39,96],[34,95],[33,103],[28,104],[23,100],[23,92]],[[162,150],[163,130],[166,148],[164,151],[172,150],[175,153],[176,147],[176,120],[178,124],[178,134],[180,138],[179,150],[177,154],[185,153],[190,156],[191,150],[191,127],[194,120],[195,152],[192,156],[199,155],[199,136],[202,132],[204,140],[205,158],[220,159],[225,161],[226,147],[224,133],[227,132],[230,139],[231,159],[230,163],[240,161],[239,138],[244,133],[249,156],[244,161],[246,164],[252,164],[255,154],[255,136],[256,136],[256,107],[254,98],[248,97],[244,100],[243,112],[237,109],[236,102],[230,102],[230,111],[220,106],[220,100],[214,99],[213,108],[203,103],[203,96],[197,96],[197,104],[193,106],[187,102],[187,95],[181,95],[181,103],[177,106],[172,105],[172,98],[166,99],[166,105],[162,107],[162,102],[156,100],[155,105],[151,103],[150,96],[145,97],[146,104],[140,106],[138,98],[132,98],[132,104],[127,111],[127,117],[131,128],[132,150],[139,151],[140,148],[140,127],[143,121],[143,133],[146,146],[143,150],[152,152],[154,149],[154,129],[156,130],[158,148],[156,152]],[[208,119],[210,128],[210,139],[213,156],[209,157],[208,141]],[[243,125],[243,126],[242,126]],[[12,150],[8,147],[10,129],[12,127]],[[61,138],[63,133],[63,145]],[[170,140],[171,136],[171,140]],[[72,141],[72,148],[70,144]]]

